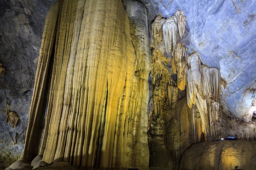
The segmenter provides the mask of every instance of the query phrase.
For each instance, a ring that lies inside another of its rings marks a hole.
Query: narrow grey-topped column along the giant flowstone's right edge
[[[130,96],[129,111],[133,112],[134,135],[134,161],[135,167],[148,167],[148,74],[150,70],[150,44],[148,38],[147,10],[143,3],[136,0],[127,0],[126,11],[130,22],[130,34],[135,49],[135,74]],[[123,125],[124,126],[124,125]],[[126,143],[124,142],[124,145]],[[119,148],[117,148],[119,150]]]

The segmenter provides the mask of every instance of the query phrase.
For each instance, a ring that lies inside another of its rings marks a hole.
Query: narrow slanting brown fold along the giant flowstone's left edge
[[[45,21],[38,68],[35,76],[34,92],[29,112],[29,124],[26,130],[26,140],[20,160],[31,160],[38,154],[40,143],[38,138],[41,137],[40,131],[42,130],[38,125],[40,124],[39,122],[42,122],[42,119],[44,119],[45,114],[43,106],[46,102],[45,98],[47,98],[46,95],[48,93],[47,85],[49,84],[47,74],[51,71],[50,60],[54,53],[59,8],[59,2],[53,4],[48,11]],[[48,123],[49,122],[46,122],[46,125]],[[48,131],[45,131],[45,134],[47,133]]]

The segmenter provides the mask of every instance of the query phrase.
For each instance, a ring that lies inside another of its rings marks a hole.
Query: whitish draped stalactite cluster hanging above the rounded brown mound
[[[196,105],[207,139],[220,135],[219,122],[219,96],[221,91],[221,75],[217,68],[209,68],[201,64],[198,53],[193,53],[187,58],[189,70],[187,71],[187,97],[188,105]]]

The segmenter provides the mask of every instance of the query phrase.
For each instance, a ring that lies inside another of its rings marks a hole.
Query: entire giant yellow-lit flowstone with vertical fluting
[[[136,1],[126,8],[128,14],[121,0],[59,0],[51,7],[20,160],[37,153],[46,163],[148,167],[147,13]]]

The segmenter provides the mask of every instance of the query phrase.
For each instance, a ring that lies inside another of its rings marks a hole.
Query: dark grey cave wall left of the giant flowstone
[[[0,169],[23,151],[44,21],[55,1],[0,0]],[[20,117],[15,128],[5,123],[6,98]]]

